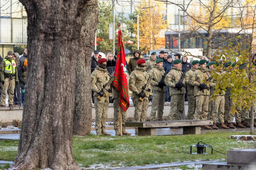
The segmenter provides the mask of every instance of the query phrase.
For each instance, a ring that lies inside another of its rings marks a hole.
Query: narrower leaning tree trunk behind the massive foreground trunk
[[[91,60],[95,32],[98,23],[98,1],[88,2],[80,34],[75,86],[74,135],[85,136],[92,126]]]

